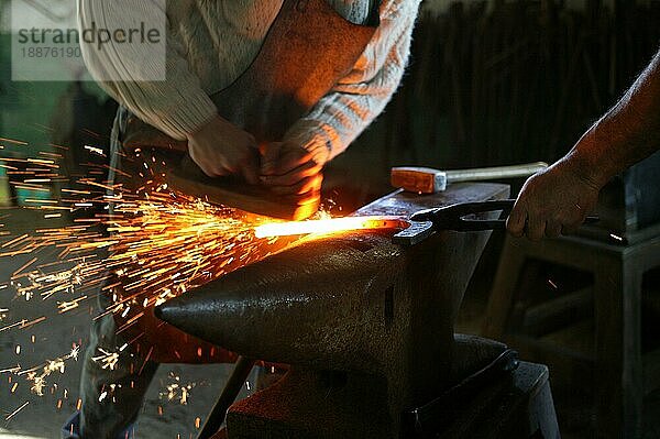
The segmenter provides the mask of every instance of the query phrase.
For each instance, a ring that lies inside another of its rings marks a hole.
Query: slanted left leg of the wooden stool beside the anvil
[[[506,237],[504,241],[482,328],[484,337],[495,340],[502,340],[506,330],[507,320],[516,297],[518,277],[526,260],[524,249],[520,249],[514,242],[515,240],[510,237]],[[520,241],[516,243],[525,245]]]

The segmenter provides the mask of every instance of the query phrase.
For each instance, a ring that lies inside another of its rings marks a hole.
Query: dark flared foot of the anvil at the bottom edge
[[[231,406],[230,438],[386,438],[386,382],[293,367],[273,386]]]

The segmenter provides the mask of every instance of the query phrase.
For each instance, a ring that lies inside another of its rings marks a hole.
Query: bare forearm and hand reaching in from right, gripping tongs
[[[660,150],[660,52],[573,149],[527,180],[508,220],[532,240],[574,231],[616,174]]]

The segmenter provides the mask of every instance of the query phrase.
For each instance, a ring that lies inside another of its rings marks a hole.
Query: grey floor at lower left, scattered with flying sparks
[[[14,233],[36,229],[42,216],[26,211],[12,211],[1,230]],[[53,223],[44,223],[52,227]],[[6,284],[12,273],[33,256],[0,257],[0,285]],[[42,255],[46,263],[54,255]],[[15,366],[28,370],[43,365],[48,360],[59,359],[70,353],[74,343],[81,351],[87,345],[92,310],[89,305],[57,314],[56,300],[41,300],[33,297],[26,301],[15,297],[11,287],[0,289],[0,371]],[[29,328],[2,329],[13,322],[45,317],[46,320]],[[26,375],[16,376],[9,372],[0,373],[0,439],[4,438],[47,438],[59,437],[61,426],[75,411],[78,400],[78,383],[81,354],[78,361],[65,361],[65,371],[47,376],[44,395],[31,392],[32,382]],[[196,419],[204,424],[205,417],[220,394],[229,373],[227,365],[162,365],[152,383],[140,415],[138,438],[195,438]],[[187,405],[180,398],[168,400],[167,386],[191,384]],[[246,384],[246,387],[251,384]],[[252,387],[251,387],[252,388]],[[21,408],[22,407],[22,408]],[[12,414],[14,410],[20,411]],[[162,410],[162,414],[160,414]]]

